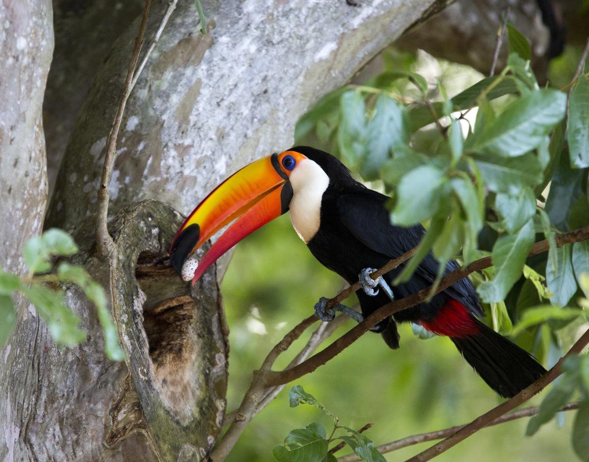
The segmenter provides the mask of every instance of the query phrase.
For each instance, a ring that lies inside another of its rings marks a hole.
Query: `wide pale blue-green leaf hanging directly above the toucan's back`
[[[376,180],[380,167],[389,158],[391,148],[407,144],[409,129],[407,111],[393,98],[380,95],[376,112],[366,127],[366,146],[360,159],[360,174],[365,180]]]

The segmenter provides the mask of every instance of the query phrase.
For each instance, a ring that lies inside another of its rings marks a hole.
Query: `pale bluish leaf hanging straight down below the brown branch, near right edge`
[[[571,262],[571,247],[571,244],[567,244],[548,250],[546,284],[552,293],[551,303],[561,307],[566,306],[577,291],[577,281]]]

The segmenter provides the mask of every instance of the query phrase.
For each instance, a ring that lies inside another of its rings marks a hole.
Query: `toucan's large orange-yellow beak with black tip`
[[[294,161],[302,154],[286,151],[246,165],[227,178],[188,215],[170,247],[170,261],[178,274],[184,262],[217,231],[231,224],[198,263],[192,283],[221,255],[247,235],[289,210],[292,187],[284,157]],[[289,165],[289,162],[286,162]]]

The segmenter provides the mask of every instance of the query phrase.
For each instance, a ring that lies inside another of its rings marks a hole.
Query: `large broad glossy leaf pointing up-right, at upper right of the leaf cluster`
[[[485,127],[475,142],[466,139],[468,151],[518,157],[537,148],[548,131],[563,117],[567,95],[543,88],[512,102],[495,121]]]

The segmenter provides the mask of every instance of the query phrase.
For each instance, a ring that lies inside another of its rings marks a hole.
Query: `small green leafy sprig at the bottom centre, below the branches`
[[[325,427],[317,422],[307,425],[305,428],[297,428],[290,431],[284,438],[284,444],[277,444],[272,450],[274,459],[279,462],[332,462],[335,459],[329,453],[329,443],[342,440],[356,453],[358,457],[366,462],[385,462],[382,454],[376,450],[374,443],[366,436],[350,427],[341,426],[339,418],[330,413],[323,404],[303,390],[300,385],[291,388],[289,394],[290,407],[297,407],[299,404],[309,404],[322,410],[333,420],[333,430],[327,437]],[[339,436],[336,436],[337,431]]]

